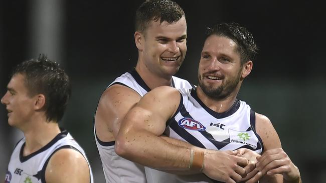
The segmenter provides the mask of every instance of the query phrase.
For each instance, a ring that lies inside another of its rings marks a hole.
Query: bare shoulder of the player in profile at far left
[[[85,157],[77,150],[56,151],[45,170],[46,182],[90,182],[90,169]]]

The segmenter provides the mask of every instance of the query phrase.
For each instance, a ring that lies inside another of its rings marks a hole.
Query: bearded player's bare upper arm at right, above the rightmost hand
[[[261,137],[264,144],[264,151],[271,148],[281,147],[278,134],[270,119],[256,112],[256,131]]]

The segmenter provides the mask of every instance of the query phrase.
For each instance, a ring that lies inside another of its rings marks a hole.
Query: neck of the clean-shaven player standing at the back
[[[151,72],[145,66],[141,66],[141,64],[137,64],[135,69],[150,89],[162,85],[171,86],[172,75],[162,77],[158,74]]]

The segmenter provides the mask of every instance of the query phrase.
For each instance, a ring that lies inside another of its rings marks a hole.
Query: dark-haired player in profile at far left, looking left
[[[5,182],[93,182],[82,147],[60,128],[70,97],[68,75],[42,54],[16,66],[1,103],[8,123],[24,132]]]

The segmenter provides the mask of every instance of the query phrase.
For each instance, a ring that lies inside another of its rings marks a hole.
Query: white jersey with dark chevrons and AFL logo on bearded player
[[[226,112],[215,112],[197,96],[196,89],[179,89],[181,101],[177,112],[168,121],[166,135],[198,147],[214,150],[248,148],[261,153],[263,143],[255,131],[255,112],[236,100]],[[219,182],[204,174],[176,175],[178,182]]]

